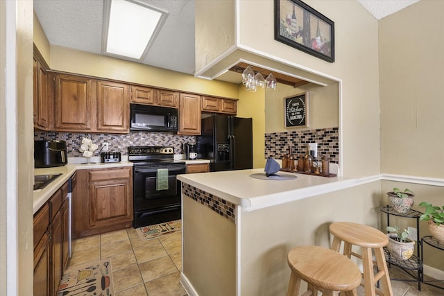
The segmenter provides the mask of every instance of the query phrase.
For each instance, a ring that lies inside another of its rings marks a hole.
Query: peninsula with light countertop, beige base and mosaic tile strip
[[[377,226],[379,200],[371,197],[379,195],[379,181],[284,172],[278,174],[296,179],[250,177],[258,173],[264,169],[178,175],[181,282],[189,295],[285,295],[292,247],[328,247],[334,221]]]

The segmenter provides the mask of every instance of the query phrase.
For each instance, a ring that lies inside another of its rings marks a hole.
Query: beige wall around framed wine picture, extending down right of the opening
[[[272,61],[267,64],[279,61],[291,65],[293,69],[297,68],[295,71],[289,69],[289,73],[299,73],[300,69],[304,69],[307,76],[322,73],[321,76],[331,78],[330,82],[341,80],[339,92],[342,101],[339,104],[343,159],[340,162],[343,175],[360,177],[379,173],[377,20],[358,1],[306,1],[309,6],[334,21],[336,60],[330,63],[274,40],[273,3],[237,1],[239,18],[236,28],[240,37],[236,46]],[[199,11],[196,7],[196,14],[200,13],[205,11]],[[261,16],[260,21],[257,16]],[[214,15],[207,12],[206,17],[210,19]],[[196,26],[198,30],[200,28]],[[225,35],[231,36],[230,32],[213,33],[217,36],[204,37],[223,39]],[[220,52],[216,46],[212,50]],[[225,58],[223,62],[228,60]],[[210,62],[216,60],[207,60],[207,64]]]

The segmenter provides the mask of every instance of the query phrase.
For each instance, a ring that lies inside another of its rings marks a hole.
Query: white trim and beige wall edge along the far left
[[[0,295],[33,295],[32,19],[32,1],[1,1]]]

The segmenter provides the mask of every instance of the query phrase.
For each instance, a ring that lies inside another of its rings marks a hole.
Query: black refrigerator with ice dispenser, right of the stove
[[[253,119],[213,115],[202,119],[196,137],[198,158],[210,160],[210,171],[253,168]]]

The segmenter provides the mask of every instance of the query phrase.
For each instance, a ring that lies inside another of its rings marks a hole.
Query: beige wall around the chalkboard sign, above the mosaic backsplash
[[[309,127],[285,128],[284,98],[308,92]],[[315,130],[318,128],[337,128],[339,126],[339,90],[338,83],[326,87],[302,85],[294,88],[279,85],[275,91],[266,92],[265,96],[265,132],[291,132],[293,130]]]

